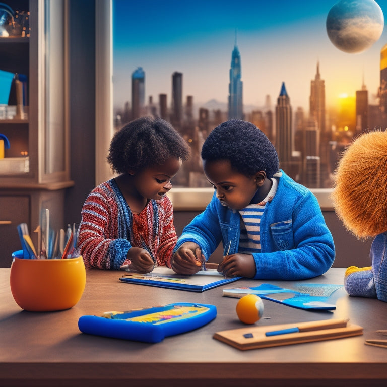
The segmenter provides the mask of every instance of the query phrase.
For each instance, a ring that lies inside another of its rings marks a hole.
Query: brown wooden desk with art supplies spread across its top
[[[122,272],[87,270],[85,292],[73,308],[35,313],[21,310],[9,286],[10,269],[0,269],[0,385],[102,386],[360,386],[385,385],[387,349],[364,344],[383,338],[387,303],[349,297],[344,289],[336,310],[312,312],[264,300],[264,317],[257,325],[350,318],[364,328],[362,336],[315,343],[240,351],[213,339],[213,334],[242,328],[236,298],[222,297],[222,287],[203,293],[122,283]],[[344,269],[331,269],[304,283],[342,284]],[[263,281],[281,287],[290,282]],[[224,288],[257,286],[239,280]],[[299,283],[299,282],[298,282]],[[217,317],[192,332],[157,344],[110,339],[80,333],[78,318],[108,310],[129,310],[173,302],[217,306]],[[384,337],[385,338],[385,337]],[[161,384],[160,384],[161,383]],[[117,385],[117,384],[115,384]]]

